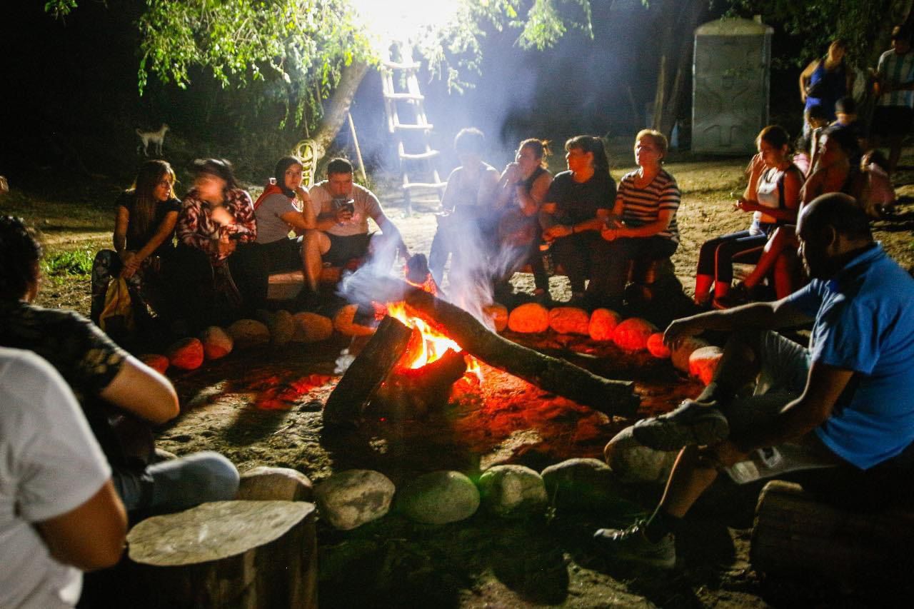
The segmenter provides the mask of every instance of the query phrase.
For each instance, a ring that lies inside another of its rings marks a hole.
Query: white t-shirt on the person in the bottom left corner
[[[82,573],[34,523],[99,492],[111,468],[67,383],[31,351],[0,347],[0,607],[69,607]]]

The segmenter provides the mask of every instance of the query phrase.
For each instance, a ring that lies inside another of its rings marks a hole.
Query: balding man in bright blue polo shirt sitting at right
[[[673,535],[685,513],[719,471],[759,449],[791,443],[803,465],[866,470],[914,440],[914,280],[873,241],[866,214],[847,195],[814,199],[800,212],[797,235],[811,283],[774,303],[694,315],[666,329],[671,345],[708,329],[733,334],[696,400],[633,427],[646,446],[685,448],[651,518],[596,532],[612,556],[673,567]],[[809,348],[768,331],[808,322]],[[737,399],[753,379],[756,395]]]

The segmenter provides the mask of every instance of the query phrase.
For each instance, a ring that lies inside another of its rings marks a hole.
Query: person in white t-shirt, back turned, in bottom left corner
[[[81,571],[115,564],[127,517],[67,383],[0,347],[0,607],[71,607]]]

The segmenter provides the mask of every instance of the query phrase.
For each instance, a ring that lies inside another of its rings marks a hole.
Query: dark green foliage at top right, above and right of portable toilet
[[[765,23],[781,27],[802,40],[802,53],[790,62],[805,66],[824,56],[834,38],[847,41],[848,59],[865,64],[881,22],[889,17],[892,0],[725,0],[729,15],[760,13]]]

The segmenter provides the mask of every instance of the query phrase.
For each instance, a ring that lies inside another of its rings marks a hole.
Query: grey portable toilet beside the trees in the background
[[[723,18],[695,30],[692,65],[692,151],[755,152],[768,124],[771,27]]]

